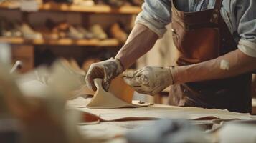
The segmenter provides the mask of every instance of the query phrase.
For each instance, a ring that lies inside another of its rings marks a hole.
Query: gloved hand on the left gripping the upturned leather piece
[[[87,87],[93,91],[96,91],[97,87],[94,84],[94,79],[103,79],[103,88],[108,91],[111,80],[122,72],[123,66],[121,65],[120,61],[118,59],[111,58],[106,61],[91,64],[85,77],[85,82]]]

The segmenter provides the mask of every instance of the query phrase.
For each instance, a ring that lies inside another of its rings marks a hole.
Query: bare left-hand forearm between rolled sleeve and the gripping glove
[[[152,49],[157,39],[158,36],[153,31],[143,24],[136,24],[115,58],[120,60],[124,70],[128,69],[138,58]]]

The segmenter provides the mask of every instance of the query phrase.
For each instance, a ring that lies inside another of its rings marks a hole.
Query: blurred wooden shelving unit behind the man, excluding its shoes
[[[34,8],[34,7],[33,7]],[[21,5],[16,2],[9,2],[4,1],[0,3],[0,10],[2,11],[18,11],[21,13],[22,21],[29,23],[29,16],[30,14],[37,13],[37,12],[62,12],[62,13],[80,13],[84,17],[84,21],[81,23],[84,26],[89,26],[87,24],[88,19],[90,16],[93,16],[94,14],[103,14],[103,16],[109,14],[115,16],[115,14],[125,14],[131,16],[125,16],[129,20],[131,20],[132,15],[138,14],[142,11],[141,7],[139,6],[121,6],[121,7],[111,7],[108,5],[95,5],[95,6],[82,6],[82,5],[75,5],[75,4],[65,4],[65,3],[44,3],[40,4],[38,9],[36,11],[22,11]],[[6,15],[7,16],[7,15]],[[86,20],[85,20],[86,19]],[[103,21],[104,22],[104,21]],[[97,47],[104,47],[116,49],[120,48],[120,42],[118,39],[105,39],[105,40],[99,40],[99,39],[24,39],[23,37],[19,38],[9,38],[9,37],[1,37],[0,36],[0,43],[4,44],[11,44],[12,49],[12,60],[20,60],[24,63],[24,66],[20,71],[27,72],[29,70],[32,70],[34,67],[34,59],[36,57],[35,51],[36,47],[44,46],[46,45],[47,48],[51,48],[51,46],[80,46],[82,48],[92,48],[93,46]],[[41,47],[42,48],[42,47]],[[75,50],[75,49],[72,49]],[[100,50],[100,49],[99,49]],[[90,50],[89,50],[90,51]]]

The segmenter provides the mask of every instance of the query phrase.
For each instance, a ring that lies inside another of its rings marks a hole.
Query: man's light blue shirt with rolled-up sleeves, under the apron
[[[215,0],[176,0],[181,11],[213,9]],[[256,57],[256,0],[223,0],[221,14],[229,31],[237,32],[237,47]],[[145,0],[136,23],[143,24],[162,37],[171,22],[171,0]]]

